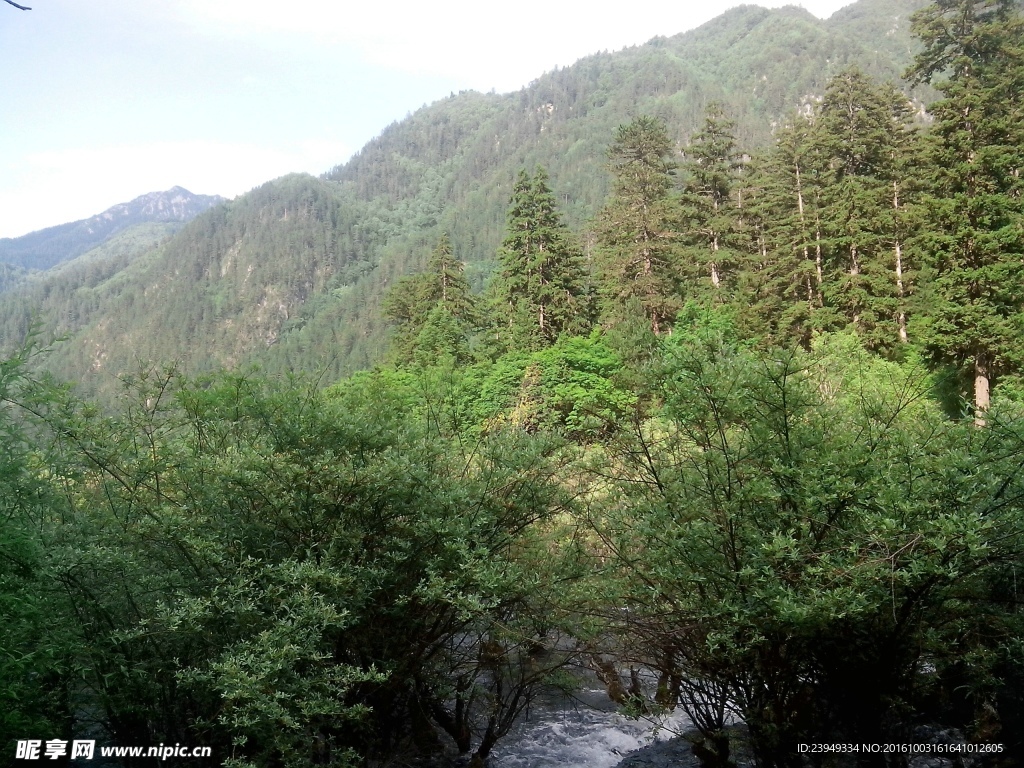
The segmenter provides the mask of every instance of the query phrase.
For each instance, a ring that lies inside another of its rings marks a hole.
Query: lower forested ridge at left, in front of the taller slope
[[[56,333],[72,335],[54,352],[56,371],[101,375],[100,387],[138,359],[234,365],[273,344],[296,307],[343,273],[342,254],[366,261],[340,225],[332,185],[288,176],[207,211],[128,263],[114,254],[72,262],[11,296],[5,321],[24,333],[35,300]]]

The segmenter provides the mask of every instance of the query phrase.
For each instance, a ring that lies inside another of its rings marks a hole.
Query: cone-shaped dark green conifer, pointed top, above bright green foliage
[[[562,222],[548,174],[519,172],[509,203],[500,269],[492,295],[499,336],[508,346],[536,349],[592,323],[583,254]]]

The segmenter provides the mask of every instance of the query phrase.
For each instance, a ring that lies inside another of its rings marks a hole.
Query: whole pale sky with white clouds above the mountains
[[[826,18],[849,1],[796,4]],[[319,174],[451,93],[515,91],[740,4],[17,2],[32,10],[0,2],[0,238],[175,185],[232,198]]]

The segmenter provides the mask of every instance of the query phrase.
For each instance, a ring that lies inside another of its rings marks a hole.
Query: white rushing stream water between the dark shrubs
[[[615,712],[603,688],[588,685],[575,700],[546,697],[528,720],[498,742],[492,768],[612,768],[630,752],[655,738],[671,738],[686,730],[685,716],[675,714],[657,723],[631,720]]]

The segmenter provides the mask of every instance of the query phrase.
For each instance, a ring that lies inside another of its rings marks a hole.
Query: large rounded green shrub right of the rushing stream
[[[968,652],[953,627],[1019,555],[1012,435],[946,422],[919,372],[851,339],[666,364],[665,409],[624,435],[591,513],[632,652],[706,735],[741,717],[759,763],[904,738],[923,665]]]

